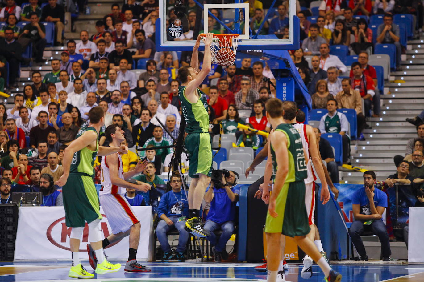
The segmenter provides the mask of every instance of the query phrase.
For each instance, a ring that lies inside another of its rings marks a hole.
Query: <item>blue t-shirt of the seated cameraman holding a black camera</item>
[[[209,188],[210,189],[210,186]],[[240,194],[240,186],[236,185],[231,188],[234,194]],[[225,188],[213,188],[214,197],[210,203],[207,220],[212,220],[218,224],[227,221],[234,221],[236,215],[236,203],[233,203],[227,195]]]

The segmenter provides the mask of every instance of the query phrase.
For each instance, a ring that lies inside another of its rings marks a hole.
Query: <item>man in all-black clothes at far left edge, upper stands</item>
[[[1,35],[2,33],[0,33]],[[14,39],[14,31],[11,27],[4,29],[4,37],[4,39],[0,39],[0,55],[4,56],[9,63],[9,88],[17,88],[16,79],[19,74],[20,63],[28,63],[30,59],[22,57],[22,46]]]

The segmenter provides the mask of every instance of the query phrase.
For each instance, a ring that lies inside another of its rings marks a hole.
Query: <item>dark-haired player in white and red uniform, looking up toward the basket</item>
[[[105,130],[105,135],[111,147],[117,147],[125,140],[124,131],[116,124],[109,125]],[[101,162],[100,181],[102,188],[99,192],[99,198],[109,225],[112,228],[112,234],[103,240],[103,248],[129,235],[130,248],[128,261],[125,266],[125,271],[128,272],[146,272],[151,270],[147,266],[137,263],[136,256],[140,241],[140,222],[126,197],[124,197],[126,188],[136,189],[141,192],[148,192],[150,190],[150,184],[142,183],[138,185],[124,180],[142,172],[146,165],[147,160],[138,162],[134,170],[124,173],[122,159],[119,153],[103,156]],[[96,269],[96,254],[90,244],[87,244],[87,252],[92,268]]]

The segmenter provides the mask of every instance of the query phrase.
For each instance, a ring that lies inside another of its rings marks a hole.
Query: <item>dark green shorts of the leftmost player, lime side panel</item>
[[[83,227],[101,219],[99,197],[93,178],[85,173],[70,173],[62,188],[67,227]]]

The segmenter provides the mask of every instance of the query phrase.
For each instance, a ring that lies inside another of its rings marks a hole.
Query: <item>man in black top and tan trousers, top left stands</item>
[[[41,21],[54,23],[56,34],[55,46],[63,45],[62,31],[65,27],[65,10],[63,6],[57,4],[57,0],[49,0],[49,5],[44,6]]]

